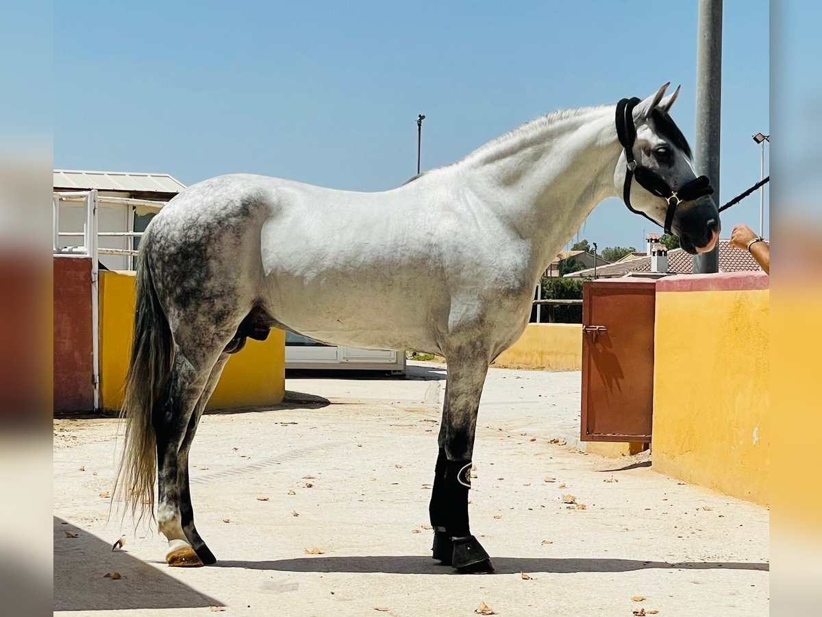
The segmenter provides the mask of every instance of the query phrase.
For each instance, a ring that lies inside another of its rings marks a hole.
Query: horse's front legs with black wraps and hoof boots
[[[442,409],[439,456],[432,488],[433,557],[463,573],[493,572],[488,554],[471,535],[468,494],[479,397],[488,371],[484,354],[450,354]]]

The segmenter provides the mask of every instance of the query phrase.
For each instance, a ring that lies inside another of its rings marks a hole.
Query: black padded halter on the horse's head
[[[650,216],[635,210],[630,205],[630,181],[636,176],[636,181],[640,186],[649,193],[653,193],[657,197],[662,197],[667,202],[667,211],[665,213],[665,233],[671,233],[671,223],[673,216],[677,211],[677,206],[682,202],[690,202],[700,197],[710,195],[713,193],[713,187],[708,176],[700,176],[690,180],[690,182],[683,184],[678,191],[674,191],[668,186],[667,181],[655,169],[637,165],[634,159],[634,141],[636,141],[636,127],[634,126],[634,108],[640,102],[639,99],[622,99],[617,103],[617,137],[622,147],[625,148],[625,157],[628,163],[628,169],[625,174],[625,184],[622,187],[622,201],[628,206],[628,210],[641,214],[646,219],[653,221],[659,225],[657,221]]]

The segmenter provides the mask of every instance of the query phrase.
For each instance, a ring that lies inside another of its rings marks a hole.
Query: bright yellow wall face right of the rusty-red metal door
[[[653,468],[769,503],[769,290],[657,291]]]

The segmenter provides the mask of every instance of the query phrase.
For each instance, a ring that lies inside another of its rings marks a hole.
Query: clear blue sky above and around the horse
[[[194,6],[58,3],[56,168],[381,190],[415,171],[419,113],[431,169],[555,109],[665,81],[681,83],[672,115],[694,139],[696,2]],[[759,179],[758,131],[769,132],[769,3],[726,0],[722,202]],[[723,216],[723,236],[758,221],[749,197]],[[640,247],[649,225],[609,200],[580,237]]]

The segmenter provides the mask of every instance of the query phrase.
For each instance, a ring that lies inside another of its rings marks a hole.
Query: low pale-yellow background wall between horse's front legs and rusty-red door
[[[509,369],[578,371],[582,369],[582,325],[529,323],[519,341],[494,360]]]

